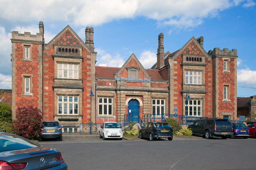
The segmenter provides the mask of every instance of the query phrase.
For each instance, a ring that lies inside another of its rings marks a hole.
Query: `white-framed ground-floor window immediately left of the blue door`
[[[99,97],[99,115],[112,115],[112,98]]]

